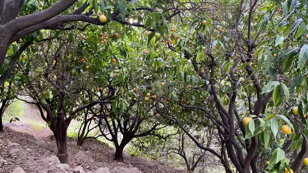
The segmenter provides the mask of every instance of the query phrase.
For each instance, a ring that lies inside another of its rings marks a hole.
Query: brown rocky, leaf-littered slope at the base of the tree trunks
[[[0,133],[0,172],[186,172],[170,168],[160,162],[130,157],[127,154],[124,155],[124,163],[115,163],[112,161],[113,149],[95,140],[86,140],[82,146],[76,146],[75,139],[68,139],[69,163],[61,164],[55,156],[54,139],[37,134],[40,132],[30,131],[30,135],[14,131],[10,127],[17,128],[16,125],[7,124],[5,132]],[[35,134],[39,138],[34,137]]]

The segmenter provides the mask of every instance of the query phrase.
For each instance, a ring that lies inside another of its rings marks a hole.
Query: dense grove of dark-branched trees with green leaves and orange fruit
[[[306,1],[5,2],[2,105],[32,97],[61,162],[74,120],[117,161],[132,142],[191,171],[307,170]]]

